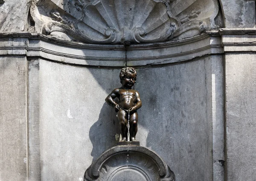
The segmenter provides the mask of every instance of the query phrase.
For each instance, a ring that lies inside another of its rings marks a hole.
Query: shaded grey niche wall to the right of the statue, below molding
[[[180,181],[212,180],[208,65],[210,59],[205,57],[138,71],[142,77],[137,89],[144,103],[140,123],[147,129],[145,146],[160,154]]]

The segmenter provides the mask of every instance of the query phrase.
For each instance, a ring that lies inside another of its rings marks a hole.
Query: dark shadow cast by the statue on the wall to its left
[[[93,161],[103,152],[115,146],[115,135],[119,134],[116,113],[106,102],[99,113],[99,119],[90,127],[89,137],[93,144]],[[99,146],[100,145],[100,146]]]

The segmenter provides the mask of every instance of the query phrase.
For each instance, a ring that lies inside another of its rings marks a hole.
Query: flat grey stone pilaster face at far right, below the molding
[[[255,181],[256,56],[228,53],[225,59],[227,180]]]

